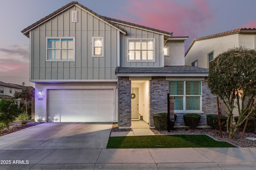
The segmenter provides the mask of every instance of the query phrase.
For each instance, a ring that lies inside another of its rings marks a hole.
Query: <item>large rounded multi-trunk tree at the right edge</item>
[[[228,108],[227,137],[232,139],[238,127],[255,111],[255,105],[251,110],[250,105],[256,96],[256,51],[240,47],[218,55],[210,64],[208,86]],[[239,117],[233,127],[235,103]]]

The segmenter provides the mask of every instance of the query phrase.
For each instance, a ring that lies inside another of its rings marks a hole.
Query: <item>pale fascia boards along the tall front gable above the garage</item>
[[[88,12],[88,13],[89,13],[89,14],[91,14],[92,16],[94,16],[94,17],[98,18],[99,20],[103,21],[104,23],[106,23],[106,24],[110,25],[110,27],[113,27],[113,28],[115,28],[115,29],[119,30],[121,33],[126,34],[126,32],[124,32],[124,31],[122,31],[122,30],[118,29],[117,27],[114,27],[113,25],[111,25],[111,24],[109,24],[108,22],[106,22],[106,21],[102,20],[102,19],[101,19],[101,18],[99,18],[98,16],[96,16],[96,15],[92,14],[91,12],[89,12],[89,11],[85,10],[84,8],[82,8],[81,6],[79,6],[79,5],[77,5],[77,4],[72,4],[72,5],[68,6],[67,8],[64,8],[64,9],[63,9],[63,10],[61,10],[60,12],[58,12],[58,13],[56,13],[55,15],[51,16],[50,18],[47,18],[46,20],[44,20],[44,21],[42,21],[42,22],[38,23],[38,24],[37,24],[37,25],[35,25],[34,27],[31,27],[30,29],[28,29],[28,30],[24,31],[24,32],[23,32],[23,34],[24,34],[24,35],[26,35],[30,30],[32,30],[32,29],[34,29],[35,27],[38,27],[38,25],[41,25],[42,23],[45,23],[46,21],[48,21],[48,20],[50,20],[50,19],[54,18],[55,16],[57,16],[58,14],[60,14],[60,13],[64,12],[64,11],[65,11],[65,10],[67,10],[68,8],[71,8],[72,6],[76,6],[76,7],[80,8],[81,10],[84,10],[84,11]],[[107,20],[107,19],[106,19],[106,20]],[[108,20],[108,21],[109,21],[109,20]],[[112,21],[110,21],[110,22],[112,22]],[[112,23],[113,23],[113,22],[112,22]],[[26,36],[27,36],[27,35],[26,35]],[[28,36],[27,36],[27,37],[28,37]]]

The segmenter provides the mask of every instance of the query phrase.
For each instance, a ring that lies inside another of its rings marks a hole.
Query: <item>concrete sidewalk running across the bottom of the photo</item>
[[[0,150],[0,169],[254,170],[256,148]],[[10,160],[10,164],[6,164]],[[16,162],[18,160],[18,162]],[[17,163],[17,164],[16,164]]]

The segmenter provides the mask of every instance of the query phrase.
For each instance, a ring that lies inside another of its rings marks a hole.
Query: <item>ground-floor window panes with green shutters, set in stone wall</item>
[[[174,96],[174,110],[201,110],[201,82],[200,81],[170,81],[169,94]]]

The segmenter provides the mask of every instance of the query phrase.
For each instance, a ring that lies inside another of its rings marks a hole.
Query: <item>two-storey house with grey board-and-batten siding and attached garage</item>
[[[158,29],[100,16],[71,2],[22,30],[30,39],[35,120],[118,122],[154,127],[175,96],[177,126],[184,113],[217,113],[208,69],[184,66],[184,40]]]

